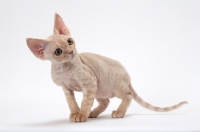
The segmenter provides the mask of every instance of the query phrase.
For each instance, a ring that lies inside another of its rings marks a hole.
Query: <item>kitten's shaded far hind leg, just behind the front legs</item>
[[[89,118],[96,118],[99,114],[106,110],[110,103],[107,98],[97,98],[96,100],[99,105],[90,113]]]

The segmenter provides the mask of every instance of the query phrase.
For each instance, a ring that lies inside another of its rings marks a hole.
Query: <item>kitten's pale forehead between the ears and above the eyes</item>
[[[47,40],[55,47],[65,48],[67,47],[67,40],[70,36],[67,35],[52,35],[47,38]]]

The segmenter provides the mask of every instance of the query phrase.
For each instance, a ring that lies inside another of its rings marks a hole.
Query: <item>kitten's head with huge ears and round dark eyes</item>
[[[28,38],[26,42],[31,52],[42,60],[63,63],[76,54],[75,41],[58,14],[55,14],[53,35],[47,39]]]

